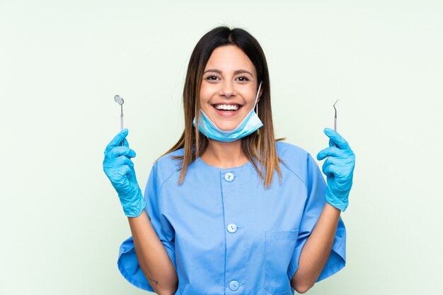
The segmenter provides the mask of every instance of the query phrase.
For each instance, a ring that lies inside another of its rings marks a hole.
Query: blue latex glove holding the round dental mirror
[[[117,191],[125,215],[137,217],[142,214],[146,202],[135,177],[134,163],[131,161],[135,151],[130,149],[127,133],[128,130],[123,129],[106,146],[103,171]],[[123,146],[120,146],[121,141]]]

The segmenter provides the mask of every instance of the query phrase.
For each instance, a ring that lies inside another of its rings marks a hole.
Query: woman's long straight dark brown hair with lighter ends
[[[184,148],[183,156],[172,156],[180,168],[179,185],[183,184],[186,169],[200,154],[203,154],[209,144],[205,134],[198,129],[200,117],[200,86],[203,72],[209,57],[215,48],[224,45],[236,45],[251,59],[257,72],[257,81],[263,81],[262,96],[258,102],[258,117],[263,127],[243,137],[241,150],[251,161],[260,178],[264,180],[265,188],[272,184],[273,173],[276,170],[281,181],[282,173],[279,162],[284,163],[277,155],[275,141],[284,140],[274,138],[272,125],[272,110],[270,101],[270,78],[267,69],[265,54],[258,41],[246,30],[241,28],[230,29],[220,26],[206,33],[195,45],[188,64],[188,72],[183,89],[183,109],[185,111],[185,129],[177,143],[162,156]],[[192,120],[195,117],[195,127]],[[197,147],[197,148],[196,148]],[[260,168],[259,168],[260,166]]]

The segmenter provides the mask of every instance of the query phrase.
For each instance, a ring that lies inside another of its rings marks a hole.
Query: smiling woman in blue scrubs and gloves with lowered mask
[[[355,156],[326,128],[329,147],[317,155],[328,157],[326,185],[309,153],[274,138],[257,40],[238,28],[205,34],[183,106],[185,130],[155,161],[144,197],[127,129],[105,150],[103,169],[132,232],[120,246],[122,275],[157,294],[294,294],[343,268],[340,211]]]

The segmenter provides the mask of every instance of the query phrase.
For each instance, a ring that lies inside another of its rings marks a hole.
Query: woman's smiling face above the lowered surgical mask
[[[257,88],[251,59],[235,45],[217,47],[203,74],[200,107],[219,129],[231,130],[254,107]]]

